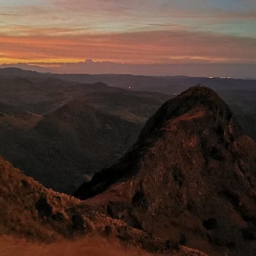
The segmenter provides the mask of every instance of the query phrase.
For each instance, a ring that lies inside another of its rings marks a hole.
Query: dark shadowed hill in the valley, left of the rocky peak
[[[48,188],[73,193],[86,175],[118,160],[141,127],[76,100],[47,116],[0,116],[0,151]]]

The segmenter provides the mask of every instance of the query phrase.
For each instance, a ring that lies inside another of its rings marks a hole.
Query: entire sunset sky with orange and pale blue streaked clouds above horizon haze
[[[0,0],[0,64],[86,59],[253,75],[256,0]]]

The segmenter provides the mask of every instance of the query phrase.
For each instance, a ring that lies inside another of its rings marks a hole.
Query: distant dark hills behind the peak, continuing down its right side
[[[172,95],[179,94],[190,86],[206,85],[216,90],[226,100],[243,129],[256,140],[256,80],[188,76],[133,76],[127,74],[54,74],[17,68],[0,69],[0,76],[18,76],[37,83],[42,83],[43,79],[48,79],[48,86],[54,88],[57,88],[57,85],[62,84],[63,81],[66,81],[65,83],[103,82],[109,86],[120,87],[129,91],[151,91]],[[156,94],[154,95],[156,96]]]

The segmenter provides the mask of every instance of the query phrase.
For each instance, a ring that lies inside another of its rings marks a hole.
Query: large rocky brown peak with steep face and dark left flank
[[[206,87],[164,103],[126,156],[74,196],[209,255],[256,254],[256,144]]]

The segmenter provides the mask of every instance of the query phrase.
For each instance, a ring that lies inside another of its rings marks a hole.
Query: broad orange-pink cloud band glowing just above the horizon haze
[[[57,37],[0,35],[0,63],[86,58],[121,63],[256,63],[255,48],[252,38],[178,30]]]

